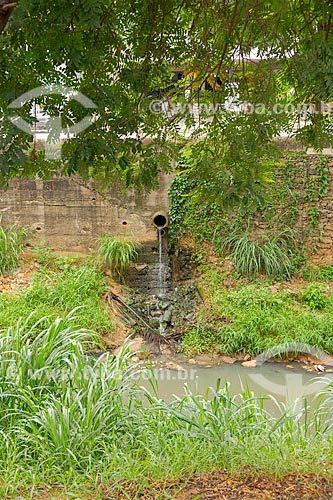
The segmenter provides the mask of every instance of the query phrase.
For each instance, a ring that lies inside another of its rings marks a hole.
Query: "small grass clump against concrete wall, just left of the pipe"
[[[142,245],[138,241],[103,235],[99,241],[98,255],[111,268],[113,275],[124,281],[128,265],[138,258],[141,248]]]

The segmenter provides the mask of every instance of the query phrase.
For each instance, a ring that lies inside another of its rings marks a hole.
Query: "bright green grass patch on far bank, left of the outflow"
[[[74,308],[75,324],[103,335],[113,331],[109,309],[102,301],[106,283],[91,262],[81,265],[73,259],[55,257],[35,273],[29,288],[20,295],[0,295],[0,329],[16,323],[20,317],[30,317],[31,326],[45,316],[66,317]],[[37,330],[38,328],[36,328]]]

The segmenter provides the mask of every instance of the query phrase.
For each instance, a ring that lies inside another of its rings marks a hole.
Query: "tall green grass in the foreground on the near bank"
[[[140,387],[126,350],[104,363],[86,356],[87,335],[49,318],[1,336],[1,498],[27,485],[147,483],[219,467],[320,474],[332,461],[332,387],[312,412],[277,416],[219,385],[167,404]]]

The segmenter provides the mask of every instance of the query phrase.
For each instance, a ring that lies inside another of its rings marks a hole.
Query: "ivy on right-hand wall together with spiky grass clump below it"
[[[184,155],[171,183],[170,238],[179,246],[186,235],[198,258],[205,248],[230,257],[239,274],[256,278],[290,278],[323,235],[323,200],[331,183],[328,157],[288,153],[270,161],[272,175],[258,202],[246,197],[232,212],[214,194],[214,180],[204,185]],[[205,190],[212,189],[208,200]],[[223,193],[222,198],[227,195]],[[213,199],[213,197],[215,199]]]

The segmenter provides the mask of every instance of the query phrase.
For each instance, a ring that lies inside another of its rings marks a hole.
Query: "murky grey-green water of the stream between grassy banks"
[[[244,368],[241,364],[222,364],[210,368],[182,363],[182,370],[154,366],[153,373],[158,384],[158,396],[170,401],[173,396],[184,395],[184,384],[191,391],[205,395],[209,388],[216,387],[218,379],[220,386],[230,384],[230,392],[239,394],[248,388],[255,396],[273,396],[278,403],[287,407],[303,406],[304,399],[311,403],[330,381],[333,373],[316,374],[302,369],[297,363],[293,368],[286,368],[281,363],[264,363],[257,368]],[[149,385],[147,376],[143,377],[143,385]],[[274,410],[276,404],[270,400],[265,404],[269,410]]]

